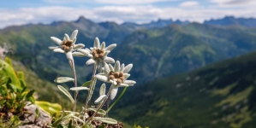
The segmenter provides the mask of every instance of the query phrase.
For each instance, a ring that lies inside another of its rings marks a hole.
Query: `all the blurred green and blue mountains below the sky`
[[[92,47],[96,37],[106,46],[116,43],[109,56],[126,65],[134,64],[129,79],[137,84],[126,93],[133,98],[125,96],[118,103],[111,113],[118,119],[131,125],[140,121],[150,127],[250,127],[255,125],[252,122],[255,54],[205,67],[256,50],[256,28],[252,26],[256,21],[250,26],[241,22],[255,19],[231,18],[236,20],[235,26],[221,23],[227,19],[230,17],[204,24],[158,20],[142,25],[118,25],[80,17],[50,25],[6,27],[0,30],[0,44],[11,45],[15,54],[10,57],[21,61],[36,78],[49,83],[57,76],[72,77],[65,55],[48,49],[55,45],[50,37],[63,38],[64,33],[78,29],[77,43]],[[91,78],[92,66],[85,66],[87,60],[74,60],[79,84]]]

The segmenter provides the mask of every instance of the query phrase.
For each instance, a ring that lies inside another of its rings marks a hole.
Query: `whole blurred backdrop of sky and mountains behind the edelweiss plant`
[[[137,84],[110,112],[125,127],[255,128],[255,7],[255,0],[2,0],[0,45],[39,100],[68,101],[53,80],[72,77],[71,68],[48,47],[50,37],[78,29],[77,44],[89,48],[98,37],[117,44],[110,57],[134,64],[129,79]],[[92,77],[87,60],[74,60],[79,84]]]

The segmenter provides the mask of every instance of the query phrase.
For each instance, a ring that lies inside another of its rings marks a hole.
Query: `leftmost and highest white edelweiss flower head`
[[[73,52],[76,49],[85,47],[84,44],[75,44],[77,32],[78,30],[74,30],[70,38],[68,34],[65,33],[63,41],[59,38],[51,37],[51,40],[59,46],[51,46],[49,49],[53,49],[54,52],[65,53],[69,61],[73,60],[73,56],[82,56],[80,52]]]

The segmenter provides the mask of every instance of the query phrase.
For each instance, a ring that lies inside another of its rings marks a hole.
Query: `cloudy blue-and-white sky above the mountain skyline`
[[[1,0],[0,28],[77,20],[138,24],[158,19],[204,20],[224,16],[256,18],[256,0]]]

